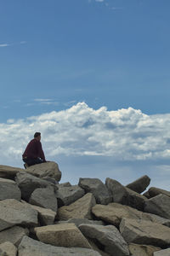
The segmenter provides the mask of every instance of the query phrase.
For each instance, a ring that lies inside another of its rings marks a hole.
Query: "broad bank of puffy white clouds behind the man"
[[[170,114],[146,115],[127,108],[97,110],[79,102],[63,111],[42,113],[0,124],[0,154],[20,159],[35,131],[42,132],[48,158],[64,155],[99,155],[116,160],[170,158]]]

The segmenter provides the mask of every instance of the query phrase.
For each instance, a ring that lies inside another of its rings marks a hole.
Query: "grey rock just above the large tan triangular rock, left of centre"
[[[81,198],[84,194],[84,189],[81,189],[78,185],[60,187],[56,192],[59,207],[69,206],[71,203]]]

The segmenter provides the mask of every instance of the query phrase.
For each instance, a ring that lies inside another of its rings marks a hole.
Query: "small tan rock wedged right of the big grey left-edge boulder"
[[[38,212],[38,219],[42,226],[54,224],[56,212],[52,211],[51,209],[45,209],[33,205],[30,206]]]

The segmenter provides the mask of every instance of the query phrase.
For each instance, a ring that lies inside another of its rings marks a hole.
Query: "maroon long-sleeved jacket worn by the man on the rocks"
[[[45,155],[42,150],[42,143],[37,141],[36,138],[32,139],[30,143],[28,143],[26,150],[24,154],[22,155],[23,158],[32,158],[36,159],[37,157],[40,157],[42,160],[45,160]]]

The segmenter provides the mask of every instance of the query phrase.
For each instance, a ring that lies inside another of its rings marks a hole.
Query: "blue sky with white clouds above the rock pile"
[[[0,0],[0,165],[42,132],[62,182],[169,189],[169,0]]]

